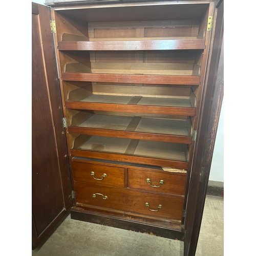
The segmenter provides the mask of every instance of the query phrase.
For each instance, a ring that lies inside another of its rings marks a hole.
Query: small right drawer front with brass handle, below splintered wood
[[[128,169],[128,186],[131,188],[184,196],[185,185],[185,175]]]

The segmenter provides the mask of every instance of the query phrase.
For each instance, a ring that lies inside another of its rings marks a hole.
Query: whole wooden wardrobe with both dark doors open
[[[223,1],[46,4],[32,3],[32,248],[70,210],[195,255],[223,98]]]

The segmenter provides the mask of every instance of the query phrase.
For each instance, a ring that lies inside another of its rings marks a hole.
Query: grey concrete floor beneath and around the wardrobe
[[[196,256],[221,256],[222,197],[207,196]],[[71,220],[67,215],[32,256],[183,256],[183,242]]]

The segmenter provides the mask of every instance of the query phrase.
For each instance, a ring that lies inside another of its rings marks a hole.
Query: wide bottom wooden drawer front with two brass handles
[[[74,182],[74,185],[77,203],[178,221],[182,218],[183,198],[140,193],[130,189],[103,187],[89,183]],[[146,203],[148,206],[145,205]]]

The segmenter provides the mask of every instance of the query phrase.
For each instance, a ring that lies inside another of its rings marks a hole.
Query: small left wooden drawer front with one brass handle
[[[74,181],[124,187],[124,168],[82,162],[73,162],[72,166]]]

